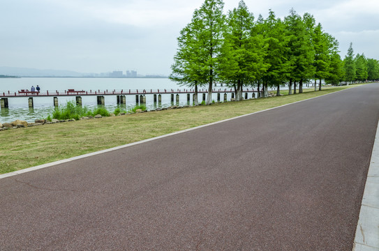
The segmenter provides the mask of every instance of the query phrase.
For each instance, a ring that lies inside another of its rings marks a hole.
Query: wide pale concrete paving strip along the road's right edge
[[[379,250],[379,124],[352,250]]]

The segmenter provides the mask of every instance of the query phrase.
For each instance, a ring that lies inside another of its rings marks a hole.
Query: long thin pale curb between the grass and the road
[[[357,86],[354,86],[354,87],[351,87],[351,88],[348,88],[348,89],[343,89],[341,91],[350,90],[350,89],[355,88],[355,87],[357,87]],[[317,97],[313,97],[313,98],[307,98],[305,100],[300,100],[300,101],[296,101],[296,102],[291,102],[291,103],[288,103],[288,104],[285,104],[285,105],[280,105],[278,107],[272,107],[272,108],[269,108],[269,109],[264,109],[262,111],[253,112],[251,114],[244,114],[244,115],[237,116],[237,117],[234,117],[234,118],[231,118],[231,119],[225,119],[223,121],[216,121],[214,123],[209,123],[209,124],[202,125],[202,126],[196,126],[194,128],[188,128],[186,130],[181,130],[179,132],[172,132],[172,133],[170,133],[168,135],[161,135],[161,136],[153,137],[153,138],[150,138],[150,139],[144,139],[144,140],[141,140],[139,142],[133,142],[133,143],[130,143],[130,144],[125,144],[123,146],[116,146],[116,147],[113,147],[111,149],[105,149],[105,150],[102,150],[102,151],[96,151],[94,153],[87,153],[87,154],[79,155],[79,156],[76,156],[76,157],[73,157],[73,158],[68,158],[68,159],[65,159],[65,160],[58,160],[58,161],[55,161],[55,162],[50,162],[50,163],[46,163],[46,164],[43,164],[43,165],[38,165],[36,167],[29,167],[29,168],[25,168],[25,169],[21,169],[21,170],[15,171],[15,172],[10,172],[10,173],[7,173],[7,174],[0,174],[0,179],[1,178],[8,178],[10,176],[15,176],[17,174],[23,174],[23,173],[26,173],[26,172],[31,172],[31,171],[38,170],[38,169],[43,169],[43,168],[46,168],[46,167],[52,167],[54,165],[59,165],[59,164],[62,164],[62,163],[70,162],[70,161],[73,161],[73,160],[78,160],[78,159],[81,159],[81,158],[87,158],[87,157],[90,157],[90,156],[93,156],[93,155],[98,155],[98,154],[101,154],[101,153],[107,153],[109,151],[123,149],[123,148],[128,147],[128,146],[134,146],[135,144],[142,144],[144,142],[149,142],[149,141],[152,141],[152,140],[155,140],[155,139],[161,139],[163,137],[170,137],[172,135],[177,135],[179,133],[188,132],[188,131],[191,131],[191,130],[196,130],[198,128],[203,128],[205,126],[212,126],[212,125],[215,125],[215,124],[218,124],[218,123],[223,123],[225,121],[231,121],[233,119],[239,119],[239,118],[244,117],[244,116],[250,116],[250,115],[253,115],[253,114],[258,114],[260,112],[266,112],[266,111],[269,111],[269,110],[272,110],[272,109],[277,109],[279,107],[285,107],[287,105],[293,105],[293,104],[296,104],[298,102],[304,102],[306,100],[312,100],[314,98],[320,98],[320,97],[327,96],[327,95],[330,95],[330,94],[339,93],[341,91],[334,91],[332,93],[327,93],[325,95],[321,95],[321,96],[317,96]]]

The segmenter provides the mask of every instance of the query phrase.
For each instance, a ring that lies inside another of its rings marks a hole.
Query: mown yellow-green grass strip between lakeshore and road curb
[[[0,132],[0,174],[321,96],[352,86]],[[304,90],[305,91],[305,90]]]

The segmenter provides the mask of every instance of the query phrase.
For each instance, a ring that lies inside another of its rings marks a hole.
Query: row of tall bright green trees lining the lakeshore
[[[303,83],[322,79],[327,83],[378,79],[379,63],[362,54],[353,55],[352,45],[344,60],[339,43],[315,23],[309,13],[290,10],[283,20],[274,11],[255,21],[244,1],[223,14],[223,0],[205,0],[181,30],[170,79],[195,89],[208,86],[207,104],[215,82],[235,88],[242,99],[244,86],[258,87],[268,95],[269,87],[289,85],[289,93],[302,93]],[[354,74],[353,74],[354,73]],[[315,83],[316,88],[316,83]]]

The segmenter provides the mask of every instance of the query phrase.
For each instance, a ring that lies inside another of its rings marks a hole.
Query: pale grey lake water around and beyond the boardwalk
[[[186,87],[178,86],[167,78],[51,78],[51,77],[22,77],[22,78],[0,78],[0,93],[14,93],[22,89],[31,89],[31,86],[40,86],[40,91],[59,91],[63,92],[67,89],[75,90],[150,90],[150,89],[186,89]],[[228,100],[231,93],[228,93]],[[249,98],[251,98],[249,96]],[[147,109],[156,109],[154,105],[154,96],[146,95]],[[201,96],[199,96],[201,102]],[[213,100],[217,100],[217,94],[212,96]],[[223,99],[223,96],[222,98]],[[59,105],[66,105],[68,100],[75,101],[75,96],[59,96]],[[188,105],[186,94],[180,94],[179,105]],[[191,96],[192,103],[192,96]],[[96,96],[82,96],[82,105],[94,108],[97,106]],[[135,96],[126,96],[126,105],[121,109],[131,109],[135,104]],[[170,94],[162,95],[162,103],[159,107],[169,107],[172,105]],[[175,105],[177,105],[175,103]],[[52,114],[54,109],[52,97],[34,98],[34,108],[29,108],[28,98],[8,98],[9,108],[1,109],[0,123],[15,121],[22,119],[27,122],[34,122],[36,119],[46,118]],[[112,112],[117,107],[117,96],[105,96],[105,107]]]

